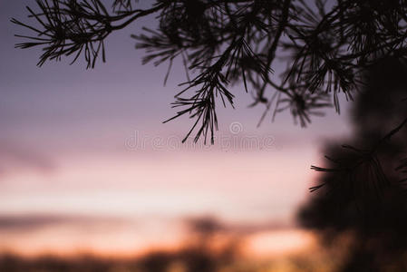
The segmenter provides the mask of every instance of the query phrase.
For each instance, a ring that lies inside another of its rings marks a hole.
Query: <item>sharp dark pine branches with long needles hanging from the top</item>
[[[233,107],[232,83],[243,83],[265,114],[289,110],[301,126],[331,105],[338,94],[353,99],[361,75],[378,57],[405,60],[405,0],[156,0],[148,9],[138,1],[37,0],[27,7],[30,24],[12,19],[33,34],[18,48],[42,47],[38,65],[81,55],[87,67],[105,61],[103,42],[114,31],[156,15],[159,26],[132,37],[147,54],[143,63],[169,64],[181,58],[187,72],[173,107],[194,119],[184,141],[218,129],[218,102]],[[286,62],[277,76],[276,58]],[[189,72],[198,76],[189,78]]]

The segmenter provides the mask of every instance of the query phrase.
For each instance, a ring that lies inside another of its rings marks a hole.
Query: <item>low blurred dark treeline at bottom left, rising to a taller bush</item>
[[[239,245],[236,238],[227,238],[220,248],[214,239],[224,227],[216,219],[198,218],[188,221],[188,241],[175,251],[153,251],[142,257],[127,259],[104,257],[18,257],[0,256],[1,272],[216,272],[233,267]],[[225,237],[225,236],[224,236]],[[237,271],[237,270],[234,270]]]

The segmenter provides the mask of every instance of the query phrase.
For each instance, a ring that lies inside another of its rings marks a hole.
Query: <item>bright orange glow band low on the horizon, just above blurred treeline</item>
[[[220,236],[218,241],[219,239],[227,238]],[[188,239],[180,233],[168,237],[141,238],[134,232],[123,229],[120,232],[83,236],[67,228],[53,228],[32,236],[6,238],[6,241],[0,247],[0,252],[11,252],[25,257],[92,255],[125,258],[142,256],[155,250],[173,252],[186,246],[184,242]],[[310,248],[314,242],[312,234],[300,229],[264,231],[244,238],[240,252],[246,257],[282,257]]]

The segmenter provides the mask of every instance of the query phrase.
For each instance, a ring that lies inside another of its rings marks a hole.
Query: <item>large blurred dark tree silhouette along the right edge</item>
[[[299,212],[300,223],[325,242],[352,236],[339,271],[407,270],[407,129],[389,131],[407,116],[406,67],[385,58],[370,69],[354,104],[354,146],[325,148],[332,156],[323,171],[320,193]],[[405,121],[404,121],[405,122]],[[392,137],[392,139],[390,139]],[[392,140],[392,141],[390,141]],[[372,149],[373,147],[373,149]]]

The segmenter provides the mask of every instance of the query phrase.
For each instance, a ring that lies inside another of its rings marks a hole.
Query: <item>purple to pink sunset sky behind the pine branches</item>
[[[183,68],[174,65],[163,86],[166,64],[142,66],[130,37],[153,16],[111,34],[107,63],[94,70],[66,59],[38,68],[39,49],[14,48],[24,30],[10,18],[27,22],[27,4],[0,2],[0,250],[173,247],[184,220],[199,216],[256,229],[255,248],[258,233],[271,251],[308,239],[296,209],[324,142],[349,133],[345,115],[331,110],[306,129],[288,113],[273,123],[267,115],[257,128],[264,107],[247,108],[251,96],[237,85],[236,109],[218,108],[216,144],[181,144],[191,121],[162,121],[175,113]]]

